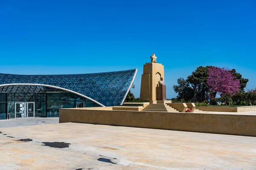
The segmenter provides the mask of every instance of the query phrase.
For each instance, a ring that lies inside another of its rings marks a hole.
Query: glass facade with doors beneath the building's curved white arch
[[[95,102],[69,92],[0,93],[0,119],[6,119],[8,113],[10,119],[22,117],[20,109],[23,106],[20,104],[23,103],[28,104],[27,110],[32,108],[35,112],[35,116],[28,114],[28,117],[58,117],[60,108],[76,108],[81,103],[81,107],[100,107]],[[35,109],[31,105],[33,103]]]

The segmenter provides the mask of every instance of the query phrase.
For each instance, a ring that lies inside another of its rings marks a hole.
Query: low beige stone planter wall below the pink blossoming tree
[[[242,107],[211,107],[211,106],[196,106],[200,111],[219,111],[219,112],[245,112],[256,111],[256,106],[242,106]]]

